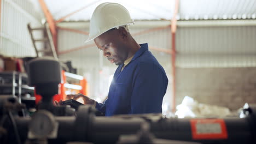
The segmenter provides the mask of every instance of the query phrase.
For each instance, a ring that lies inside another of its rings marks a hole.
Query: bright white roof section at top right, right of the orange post
[[[255,0],[181,0],[179,19],[255,19]]]

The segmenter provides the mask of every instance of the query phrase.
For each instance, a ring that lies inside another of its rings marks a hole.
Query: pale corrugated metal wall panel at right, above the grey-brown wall
[[[256,26],[177,29],[179,67],[255,67]]]

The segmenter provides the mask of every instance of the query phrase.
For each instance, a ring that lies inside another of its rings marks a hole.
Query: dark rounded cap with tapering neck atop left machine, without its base
[[[44,104],[51,103],[53,96],[59,93],[60,63],[51,57],[32,59],[28,63],[28,83],[35,87],[37,94],[42,95]]]

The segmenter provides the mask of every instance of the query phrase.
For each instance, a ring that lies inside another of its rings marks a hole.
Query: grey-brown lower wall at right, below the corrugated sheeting
[[[256,103],[256,68],[177,68],[176,78],[178,104],[185,95],[231,110]]]

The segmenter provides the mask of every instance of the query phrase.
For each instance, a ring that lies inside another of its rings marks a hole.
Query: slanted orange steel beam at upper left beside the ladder
[[[53,16],[51,15],[49,9],[47,8],[44,0],[38,0],[38,1],[39,1],[39,4],[40,4],[41,8],[43,9],[44,16],[46,17],[46,20],[49,23],[51,35],[53,35],[54,47],[55,47],[56,52],[58,52],[57,51],[57,29],[56,29],[56,23],[55,23],[55,21],[53,19]]]

